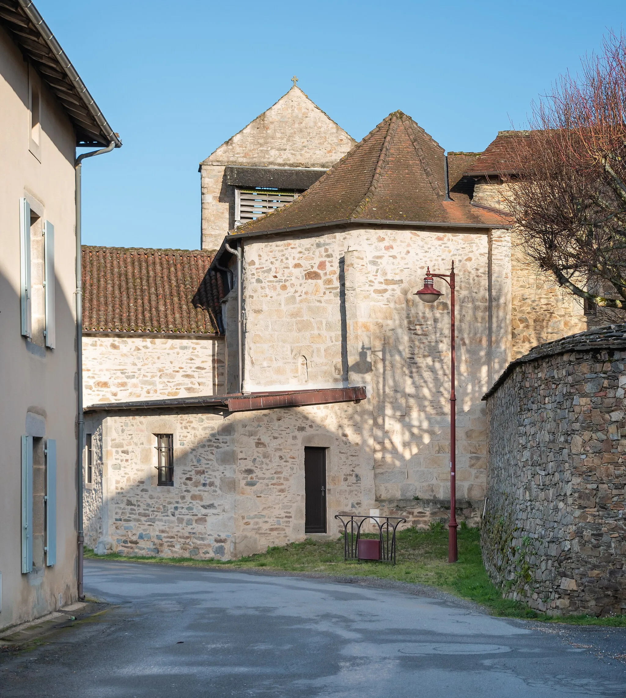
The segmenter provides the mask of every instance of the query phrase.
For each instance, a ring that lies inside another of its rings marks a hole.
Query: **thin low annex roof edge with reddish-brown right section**
[[[221,396],[183,397],[165,400],[96,403],[84,408],[85,413],[140,412],[176,409],[225,409],[228,412],[250,412],[306,405],[327,405],[340,402],[360,402],[367,397],[363,385],[350,388],[318,388],[312,390],[281,390],[274,392],[235,393]]]

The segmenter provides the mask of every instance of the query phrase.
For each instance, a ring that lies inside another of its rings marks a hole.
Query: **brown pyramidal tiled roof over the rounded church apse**
[[[451,183],[452,184],[452,183]],[[234,232],[270,232],[333,221],[505,225],[465,193],[445,201],[444,151],[403,112],[392,112],[292,204]]]

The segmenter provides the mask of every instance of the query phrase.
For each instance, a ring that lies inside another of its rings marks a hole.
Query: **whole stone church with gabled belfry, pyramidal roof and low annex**
[[[85,247],[87,544],[229,559],[337,535],[341,512],[447,518],[449,295],[415,292],[453,260],[476,522],[482,396],[587,327],[516,247],[508,140],[446,156],[393,112],[355,143],[293,87],[201,163],[201,251]]]

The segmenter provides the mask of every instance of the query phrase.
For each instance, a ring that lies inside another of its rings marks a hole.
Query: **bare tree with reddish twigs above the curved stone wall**
[[[505,200],[542,272],[604,308],[626,308],[626,40],[610,34],[559,78],[515,139]]]

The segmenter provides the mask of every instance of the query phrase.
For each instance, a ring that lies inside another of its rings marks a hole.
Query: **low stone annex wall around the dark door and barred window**
[[[86,429],[103,434],[103,462],[88,493],[87,544],[230,559],[304,540],[306,446],[327,449],[327,530],[337,535],[334,514],[375,506],[362,410],[345,403],[226,417],[91,413]],[[174,435],[173,487],[157,484],[156,433]]]

